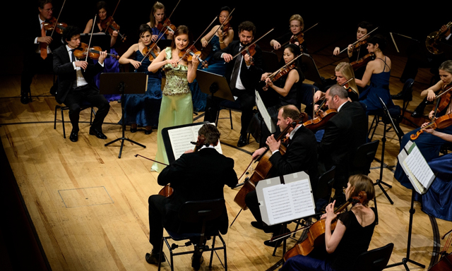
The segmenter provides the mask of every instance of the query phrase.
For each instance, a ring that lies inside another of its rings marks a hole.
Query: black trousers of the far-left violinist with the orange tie
[[[53,73],[53,55],[48,54],[42,59],[40,54],[29,54],[24,57],[23,70],[20,76],[20,95],[30,93],[30,85],[36,73]]]

